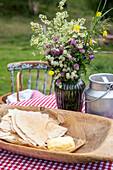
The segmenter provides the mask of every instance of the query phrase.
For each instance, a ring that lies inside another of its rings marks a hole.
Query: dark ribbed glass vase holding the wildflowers
[[[81,111],[82,110],[82,92],[85,88],[85,83],[81,79],[76,85],[62,84],[60,88],[55,83],[55,96],[58,109]]]

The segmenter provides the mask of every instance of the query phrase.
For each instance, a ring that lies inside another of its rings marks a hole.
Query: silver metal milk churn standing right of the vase
[[[113,74],[93,74],[89,81],[83,92],[85,112],[113,118]]]

